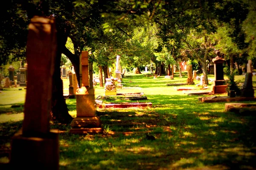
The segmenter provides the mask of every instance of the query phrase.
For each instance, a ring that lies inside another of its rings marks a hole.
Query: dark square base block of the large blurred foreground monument
[[[10,169],[58,170],[59,133],[52,129],[42,137],[23,136],[19,130],[12,137]]]

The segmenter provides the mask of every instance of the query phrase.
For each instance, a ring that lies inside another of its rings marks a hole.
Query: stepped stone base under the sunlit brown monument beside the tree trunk
[[[70,133],[101,133],[101,121],[98,116],[76,117],[71,122]]]

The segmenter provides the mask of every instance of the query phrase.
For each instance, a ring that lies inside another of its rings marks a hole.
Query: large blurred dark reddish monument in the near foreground
[[[24,120],[22,130],[12,138],[10,169],[59,168],[58,130],[49,126],[56,48],[55,19],[33,17],[26,44],[29,68]]]

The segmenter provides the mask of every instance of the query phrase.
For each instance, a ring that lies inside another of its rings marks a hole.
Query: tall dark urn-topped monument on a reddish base
[[[214,62],[214,77],[215,81],[212,86],[212,92],[213,94],[221,94],[226,93],[227,85],[225,84],[224,80],[224,72],[223,72],[223,63],[224,59],[220,56],[220,51],[215,51],[215,54],[217,55],[214,59],[212,59],[212,62]]]

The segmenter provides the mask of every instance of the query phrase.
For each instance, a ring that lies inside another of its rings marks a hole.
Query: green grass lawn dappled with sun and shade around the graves
[[[64,93],[68,93],[68,81],[64,79]],[[203,103],[198,101],[200,96],[177,91],[195,85],[166,86],[184,82],[186,77],[171,80],[126,74],[123,87],[143,92],[148,98],[143,102],[152,102],[152,108],[97,108],[103,134],[70,134],[70,125],[51,122],[51,128],[61,132],[60,170],[256,169],[256,116],[226,113],[224,102]],[[18,88],[0,93],[0,150],[10,150],[11,137],[22,126],[23,107],[11,105],[23,105],[25,94],[26,90]],[[104,88],[96,85],[95,97],[100,95],[104,96]],[[76,99],[66,102],[70,115],[76,117]],[[155,140],[148,140],[146,134]],[[0,157],[0,163],[8,161],[7,156]]]

